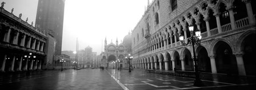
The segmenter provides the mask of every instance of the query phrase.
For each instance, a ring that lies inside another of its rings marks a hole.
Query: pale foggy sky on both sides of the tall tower
[[[151,0],[150,0],[151,1]],[[6,2],[5,10],[14,8],[14,15],[22,13],[22,20],[35,23],[38,0],[0,0]],[[120,44],[137,25],[145,11],[147,0],[66,0],[63,23],[62,50],[75,50],[91,46],[100,54],[105,37],[108,44],[116,39]]]

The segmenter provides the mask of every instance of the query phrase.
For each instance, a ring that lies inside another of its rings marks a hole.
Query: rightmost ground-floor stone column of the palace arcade
[[[235,53],[235,58],[237,59],[238,74],[245,76],[246,71],[245,71],[245,65],[243,64],[243,54]]]

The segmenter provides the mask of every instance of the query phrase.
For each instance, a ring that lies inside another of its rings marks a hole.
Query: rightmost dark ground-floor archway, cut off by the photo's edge
[[[243,64],[245,65],[246,75],[256,75],[254,69],[256,68],[256,61],[254,55],[256,53],[256,44],[255,44],[255,33],[247,36],[242,42],[242,51],[243,51]]]

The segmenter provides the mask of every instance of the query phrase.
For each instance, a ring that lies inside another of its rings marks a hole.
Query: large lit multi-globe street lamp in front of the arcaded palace
[[[194,80],[194,86],[202,86],[203,83],[200,79],[200,75],[199,75],[199,72],[198,72],[198,60],[197,58],[195,57],[195,47],[194,45],[200,45],[201,44],[201,31],[199,31],[198,29],[195,31],[195,36],[193,36],[193,31],[194,31],[194,27],[193,25],[190,25],[189,26],[189,31],[191,33],[191,37],[187,38],[187,43],[184,41],[184,36],[180,35],[179,36],[179,40],[182,42],[182,45],[183,46],[186,46],[186,45],[189,45],[189,44],[192,44],[192,47],[193,47],[193,55],[194,55],[194,69],[195,69],[195,80]]]

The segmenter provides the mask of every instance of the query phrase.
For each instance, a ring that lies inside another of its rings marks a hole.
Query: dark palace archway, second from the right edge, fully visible
[[[238,74],[237,61],[229,44],[218,41],[213,49],[216,54],[215,63],[217,72],[225,74]]]

